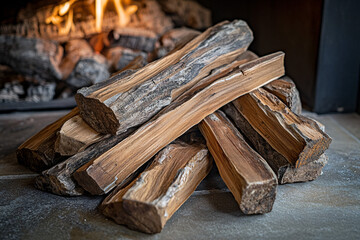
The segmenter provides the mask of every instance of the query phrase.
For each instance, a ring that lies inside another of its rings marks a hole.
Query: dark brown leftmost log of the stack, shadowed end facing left
[[[78,113],[78,108],[74,108],[70,113],[48,125],[21,144],[16,151],[19,163],[33,171],[39,172],[64,160],[64,158],[54,150],[57,137],[56,133],[67,120]]]

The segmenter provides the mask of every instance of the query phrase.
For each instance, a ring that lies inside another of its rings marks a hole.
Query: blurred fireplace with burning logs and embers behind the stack
[[[69,108],[79,88],[163,57],[211,25],[193,1],[28,1],[0,27],[2,111]]]

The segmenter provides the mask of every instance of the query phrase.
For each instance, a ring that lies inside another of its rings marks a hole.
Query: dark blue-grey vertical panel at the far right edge
[[[360,1],[324,3],[314,111],[354,112],[360,87]]]

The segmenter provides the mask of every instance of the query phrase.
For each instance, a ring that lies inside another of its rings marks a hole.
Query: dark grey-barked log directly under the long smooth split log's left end
[[[69,157],[65,161],[60,162],[57,165],[43,171],[42,174],[35,179],[36,188],[57,195],[82,195],[84,193],[84,189],[75,182],[73,179],[73,173],[82,165],[100,156],[121,142],[133,131],[134,129],[129,129],[123,134],[107,137],[101,142],[95,143],[84,151],[79,152],[74,156]],[[129,179],[132,179],[132,176],[130,176]],[[120,184],[120,186],[124,185],[126,182],[127,180]]]

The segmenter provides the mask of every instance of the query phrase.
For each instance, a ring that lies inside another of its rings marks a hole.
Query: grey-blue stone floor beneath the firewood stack
[[[102,197],[61,197],[33,187],[15,149],[65,112],[0,115],[0,239],[360,239],[360,116],[307,113],[333,138],[324,174],[278,187],[273,211],[244,216],[215,171],[160,234],[119,226],[96,207]]]

